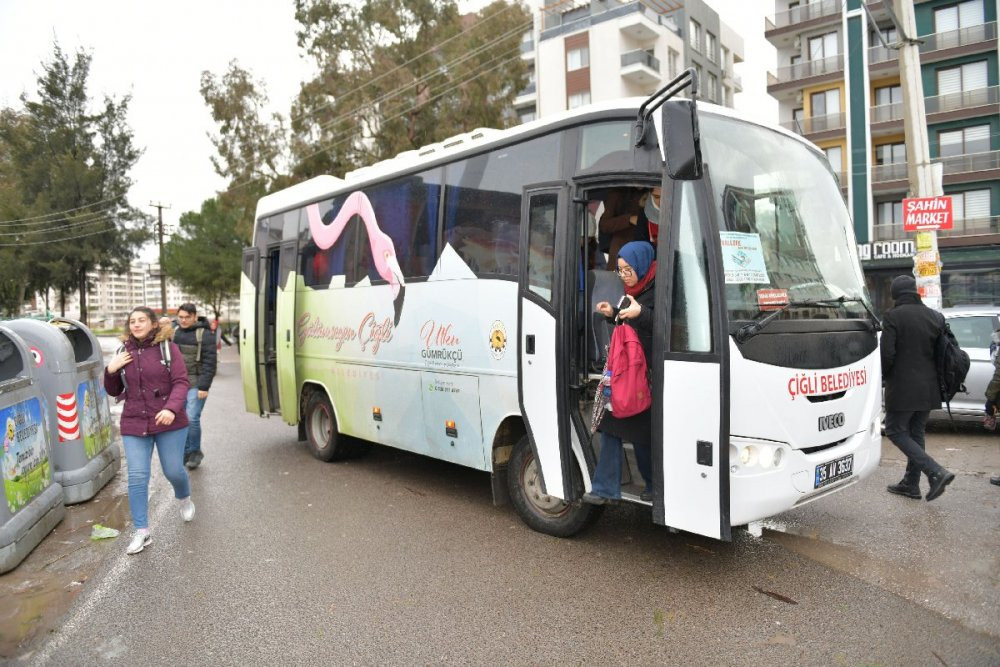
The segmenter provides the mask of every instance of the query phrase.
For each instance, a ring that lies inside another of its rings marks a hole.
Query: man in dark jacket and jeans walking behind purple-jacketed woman
[[[174,332],[174,342],[184,355],[191,383],[187,398],[190,425],[184,445],[184,465],[194,470],[205,458],[201,451],[201,411],[215,377],[215,335],[208,319],[198,317],[193,303],[182,304],[177,309],[177,322],[180,326]]]

